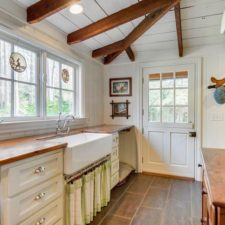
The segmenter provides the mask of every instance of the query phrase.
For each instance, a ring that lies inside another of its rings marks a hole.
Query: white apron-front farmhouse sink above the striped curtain
[[[112,152],[111,134],[80,133],[52,141],[68,143],[64,153],[66,175],[71,175]]]

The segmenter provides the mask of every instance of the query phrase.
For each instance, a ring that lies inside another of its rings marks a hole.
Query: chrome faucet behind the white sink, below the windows
[[[75,120],[73,115],[67,115],[63,120],[61,119],[62,113],[59,113],[59,119],[57,121],[56,134],[68,135],[70,133],[70,121]],[[64,121],[64,122],[63,122]],[[63,123],[63,125],[62,125]]]

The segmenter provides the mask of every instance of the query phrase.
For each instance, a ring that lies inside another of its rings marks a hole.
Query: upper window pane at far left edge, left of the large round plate
[[[11,67],[9,64],[11,52],[11,44],[0,40],[0,77],[11,78]]]

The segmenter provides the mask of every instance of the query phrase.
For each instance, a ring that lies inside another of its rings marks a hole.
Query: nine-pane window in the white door
[[[149,121],[188,123],[188,72],[149,75]]]

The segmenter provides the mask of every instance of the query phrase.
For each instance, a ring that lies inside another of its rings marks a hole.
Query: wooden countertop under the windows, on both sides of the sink
[[[96,127],[86,127],[71,130],[70,135],[81,132],[90,133],[115,133],[123,130],[129,130],[133,126],[117,126],[117,125],[102,125]],[[48,142],[48,137],[53,134],[46,134],[42,136],[31,136],[24,138],[16,138],[6,141],[0,141],[0,166],[12,163],[18,160],[26,159],[36,155],[44,154],[58,149],[64,149],[67,143],[52,143]],[[46,139],[37,140],[40,137]]]

